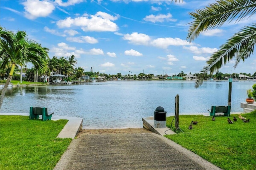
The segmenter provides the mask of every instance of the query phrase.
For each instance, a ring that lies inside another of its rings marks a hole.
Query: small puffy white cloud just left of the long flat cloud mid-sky
[[[136,45],[148,45],[150,37],[146,34],[134,32],[132,34],[125,34],[123,37],[124,40],[128,40],[129,43]]]

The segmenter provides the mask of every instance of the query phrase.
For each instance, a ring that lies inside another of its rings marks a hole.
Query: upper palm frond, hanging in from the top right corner
[[[189,13],[194,21],[188,23],[187,40],[193,41],[198,35],[208,29],[218,28],[225,22],[236,18],[236,22],[244,18],[250,18],[256,12],[256,1],[254,0],[220,0],[209,4],[208,7],[196,12]]]

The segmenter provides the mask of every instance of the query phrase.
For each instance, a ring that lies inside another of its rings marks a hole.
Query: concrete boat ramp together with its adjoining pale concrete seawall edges
[[[70,137],[73,140],[54,170],[220,170],[163,137],[173,132],[168,128],[154,128],[152,117],[143,118],[145,128],[130,129],[125,133],[82,133],[83,130],[79,132],[82,118],[52,116],[52,120],[65,118],[69,121],[58,137]],[[154,131],[146,129],[146,126]],[[77,133],[80,137],[74,139]]]

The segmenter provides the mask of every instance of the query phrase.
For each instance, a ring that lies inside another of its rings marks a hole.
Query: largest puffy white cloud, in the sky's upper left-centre
[[[65,20],[57,21],[60,28],[81,27],[83,31],[117,31],[118,26],[111,20],[117,20],[117,17],[111,16],[105,12],[97,12],[95,15],[82,16],[77,18],[68,17]]]

